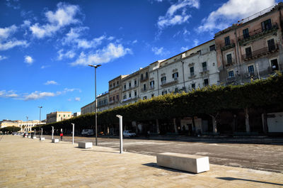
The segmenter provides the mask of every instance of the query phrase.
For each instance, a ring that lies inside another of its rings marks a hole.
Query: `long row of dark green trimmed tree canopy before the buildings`
[[[267,79],[255,80],[244,85],[210,86],[189,93],[166,94],[135,104],[119,106],[98,112],[98,125],[117,124],[117,114],[124,122],[173,119],[207,114],[214,118],[219,111],[235,109],[283,109],[283,76],[277,72]],[[45,129],[69,128],[71,123],[81,128],[91,128],[95,114],[86,114],[65,121],[41,125]],[[35,128],[39,128],[36,126]]]

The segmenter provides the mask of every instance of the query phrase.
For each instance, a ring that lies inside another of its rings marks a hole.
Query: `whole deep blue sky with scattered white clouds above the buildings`
[[[81,111],[108,81],[205,43],[275,0],[0,0],[0,120]]]

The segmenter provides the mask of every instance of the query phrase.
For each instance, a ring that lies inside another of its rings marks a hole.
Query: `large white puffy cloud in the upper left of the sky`
[[[30,26],[30,31],[32,31],[36,38],[52,36],[65,26],[69,26],[72,23],[79,23],[79,20],[75,18],[78,12],[79,6],[59,3],[55,12],[47,11],[45,13],[48,21],[47,24],[40,26],[39,23],[35,23],[33,26]]]

